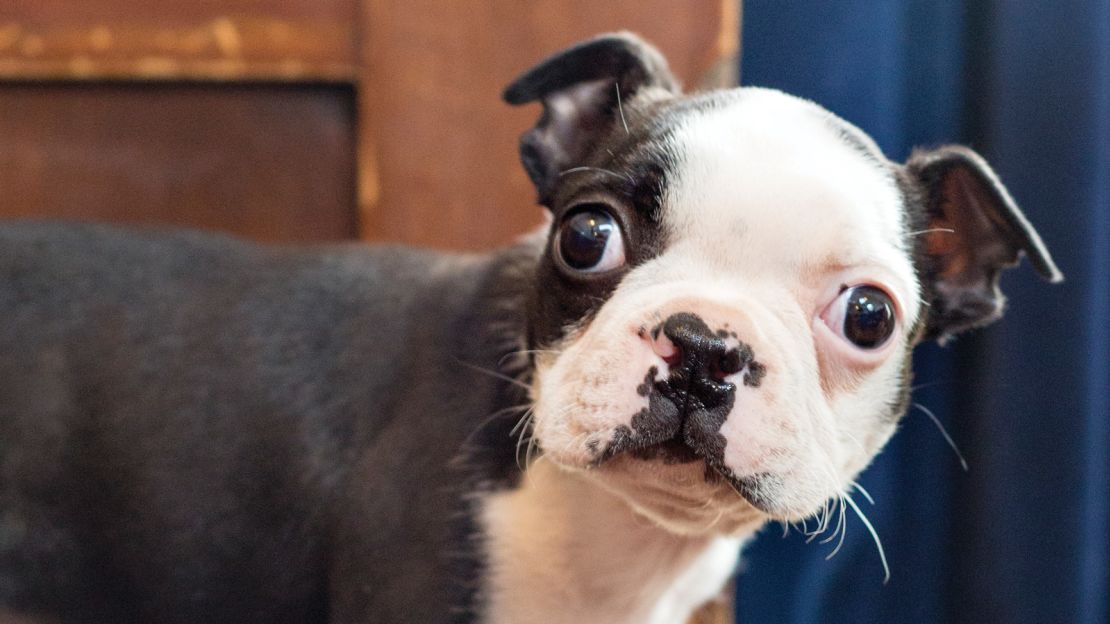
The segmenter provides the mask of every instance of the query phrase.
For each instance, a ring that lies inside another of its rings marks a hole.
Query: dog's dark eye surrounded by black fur
[[[625,263],[620,227],[602,207],[588,205],[567,215],[555,244],[563,262],[577,271],[599,273]]]

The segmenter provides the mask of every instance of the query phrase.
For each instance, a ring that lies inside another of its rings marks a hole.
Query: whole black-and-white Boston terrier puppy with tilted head
[[[675,623],[835,504],[910,352],[1060,271],[982,158],[543,60],[549,223],[485,255],[0,228],[0,620]]]

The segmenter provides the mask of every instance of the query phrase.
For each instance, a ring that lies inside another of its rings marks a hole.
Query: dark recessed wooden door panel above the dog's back
[[[355,235],[350,88],[7,84],[0,217]]]

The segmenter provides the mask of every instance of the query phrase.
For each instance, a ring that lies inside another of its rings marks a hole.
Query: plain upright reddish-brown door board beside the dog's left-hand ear
[[[736,0],[364,0],[360,212],[371,240],[483,249],[542,219],[516,157],[538,104],[501,90],[576,40],[627,29],[686,83],[736,51]]]

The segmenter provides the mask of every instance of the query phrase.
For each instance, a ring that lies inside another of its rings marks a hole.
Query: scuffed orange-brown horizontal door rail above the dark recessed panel
[[[357,0],[6,0],[0,80],[353,82]]]

